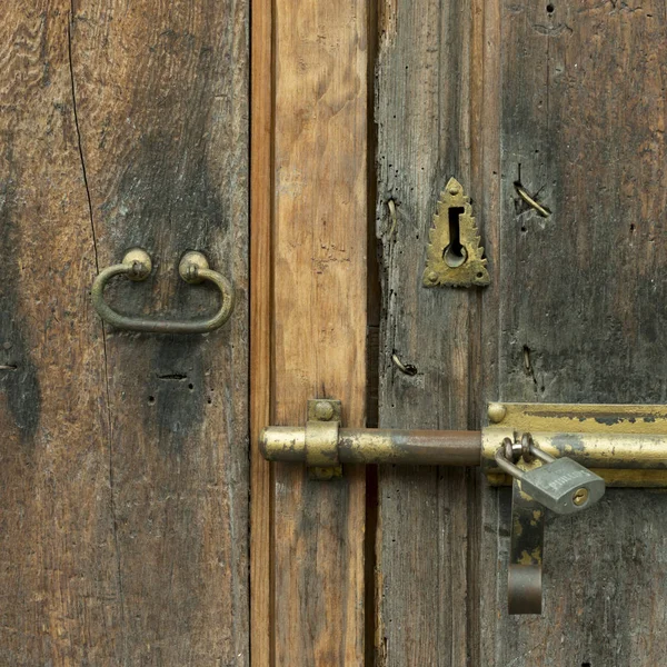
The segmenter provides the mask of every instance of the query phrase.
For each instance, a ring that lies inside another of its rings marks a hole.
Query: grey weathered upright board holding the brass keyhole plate
[[[468,195],[480,196],[471,180],[471,37],[468,0],[381,3],[376,122],[385,428],[477,426],[479,292],[421,286],[445,183],[456,177]],[[460,666],[474,650],[474,480],[460,469],[380,467],[379,665]]]

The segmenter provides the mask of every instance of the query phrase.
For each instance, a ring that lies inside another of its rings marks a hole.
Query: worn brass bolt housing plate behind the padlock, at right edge
[[[511,484],[495,455],[504,438],[529,432],[540,449],[567,456],[610,487],[667,487],[667,406],[491,404],[481,466],[494,486]]]

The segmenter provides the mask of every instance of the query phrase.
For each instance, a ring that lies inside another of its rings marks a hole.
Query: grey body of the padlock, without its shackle
[[[605,495],[605,480],[564,457],[526,470],[521,490],[556,514],[573,514],[586,509]]]

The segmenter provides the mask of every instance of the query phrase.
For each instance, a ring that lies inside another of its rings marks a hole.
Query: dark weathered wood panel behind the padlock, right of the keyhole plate
[[[496,7],[501,136],[485,141],[502,150],[487,209],[499,221],[487,395],[665,402],[665,7]],[[548,218],[521,203],[518,179]],[[665,664],[663,492],[609,490],[580,516],[550,518],[545,613],[524,618],[506,613],[509,499],[484,496],[481,664]]]

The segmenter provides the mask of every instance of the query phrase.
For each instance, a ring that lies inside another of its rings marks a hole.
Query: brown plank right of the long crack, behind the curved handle
[[[131,246],[129,313],[210,312],[187,250],[235,283],[209,336],[106,335],[112,507],[127,665],[247,665],[248,11],[246,2],[74,8],[74,93],[99,265]]]

